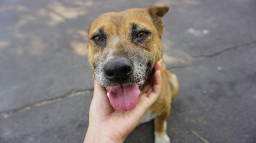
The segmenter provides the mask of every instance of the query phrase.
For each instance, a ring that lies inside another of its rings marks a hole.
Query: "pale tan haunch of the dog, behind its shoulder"
[[[177,93],[179,92],[179,80],[177,76],[170,71],[166,70],[167,77],[168,77],[168,82],[170,83],[171,86],[171,100],[174,100],[176,97]]]

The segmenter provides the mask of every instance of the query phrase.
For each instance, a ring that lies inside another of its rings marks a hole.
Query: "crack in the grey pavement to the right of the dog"
[[[186,63],[187,61],[191,61],[191,60],[197,60],[198,58],[212,58],[212,57],[216,57],[218,55],[224,54],[226,52],[230,52],[230,51],[235,51],[237,49],[242,49],[242,48],[246,48],[249,46],[255,46],[254,48],[256,48],[256,41],[252,41],[249,43],[243,43],[242,45],[239,46],[232,46],[230,48],[226,48],[226,49],[222,49],[221,51],[215,52],[213,54],[209,54],[209,55],[197,55],[194,57],[189,57],[189,58],[183,58],[181,63]],[[170,67],[168,68],[168,70],[180,70],[180,69],[189,69],[191,66],[176,66],[176,67]]]

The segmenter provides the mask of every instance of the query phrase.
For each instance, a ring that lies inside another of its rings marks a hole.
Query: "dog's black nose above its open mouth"
[[[126,58],[115,58],[104,66],[108,79],[116,82],[124,82],[132,73],[132,64]]]

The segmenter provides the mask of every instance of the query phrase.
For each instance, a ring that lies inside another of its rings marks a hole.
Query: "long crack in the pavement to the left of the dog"
[[[3,112],[0,113],[0,115],[3,116],[4,118],[7,118],[7,117],[11,116],[11,114],[13,114],[13,113],[19,113],[19,112],[22,112],[22,111],[25,111],[25,110],[30,110],[31,108],[34,108],[34,107],[39,107],[41,105],[46,105],[46,104],[50,104],[52,102],[57,102],[57,101],[60,101],[64,98],[76,97],[78,95],[84,95],[84,94],[88,94],[90,92],[94,92],[94,89],[88,89],[86,91],[73,91],[70,94],[66,94],[66,95],[63,95],[61,97],[56,97],[56,98],[52,98],[52,99],[49,99],[49,100],[36,102],[32,105],[27,105],[25,107],[16,108],[16,109],[10,110],[10,111],[3,111]]]

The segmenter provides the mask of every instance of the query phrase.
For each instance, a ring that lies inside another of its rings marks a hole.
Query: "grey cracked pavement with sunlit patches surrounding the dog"
[[[87,27],[102,13],[153,5],[170,7],[164,61],[180,80],[171,142],[255,143],[255,0],[0,0],[0,142],[83,142]],[[125,142],[153,138],[151,121]]]

